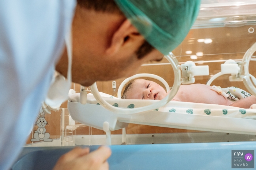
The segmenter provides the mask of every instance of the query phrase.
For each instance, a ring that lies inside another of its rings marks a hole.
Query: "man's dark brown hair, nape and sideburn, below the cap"
[[[98,12],[108,12],[117,13],[124,15],[124,13],[119,9],[114,0],[77,0],[80,7],[86,9],[93,9]],[[144,56],[149,54],[154,47],[152,47],[146,40],[136,51],[138,59],[142,59]]]

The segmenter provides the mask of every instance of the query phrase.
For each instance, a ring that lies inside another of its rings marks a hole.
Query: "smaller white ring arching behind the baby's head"
[[[163,85],[165,86],[166,88],[166,92],[170,91],[170,87],[169,87],[169,84],[165,81],[165,79],[161,78],[160,76],[158,75],[154,75],[154,74],[148,74],[148,73],[141,73],[141,74],[135,74],[127,79],[125,79],[119,86],[118,88],[118,91],[117,91],[117,97],[121,99],[121,93],[122,93],[122,90],[124,88],[124,86],[130,81],[130,80],[133,80],[133,79],[136,79],[136,78],[141,78],[141,77],[148,77],[148,78],[153,78],[153,79],[157,79],[159,80],[160,82],[163,83]]]

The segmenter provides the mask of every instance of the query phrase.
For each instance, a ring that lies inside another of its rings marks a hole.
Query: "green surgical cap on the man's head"
[[[200,0],[115,0],[144,38],[162,54],[187,36],[199,13]]]

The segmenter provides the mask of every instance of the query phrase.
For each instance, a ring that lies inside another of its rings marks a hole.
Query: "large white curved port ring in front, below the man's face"
[[[168,103],[170,100],[172,100],[172,98],[176,95],[180,84],[181,84],[181,71],[180,71],[180,65],[177,61],[177,59],[175,58],[175,56],[170,52],[169,55],[165,56],[166,59],[171,63],[172,67],[173,67],[173,71],[174,71],[174,84],[172,87],[172,91],[162,100],[160,100],[159,102],[150,104],[148,106],[143,106],[143,107],[139,107],[139,108],[118,108],[118,107],[114,107],[111,104],[109,104],[108,102],[106,102],[101,95],[99,95],[99,91],[97,88],[96,83],[94,83],[91,86],[91,92],[93,93],[95,99],[99,102],[99,104],[101,104],[101,106],[105,107],[106,109],[117,113],[117,114],[135,114],[135,113],[139,113],[139,112],[145,112],[145,111],[149,111],[149,110],[154,110],[157,109],[158,107],[162,107],[164,106],[166,103]]]

